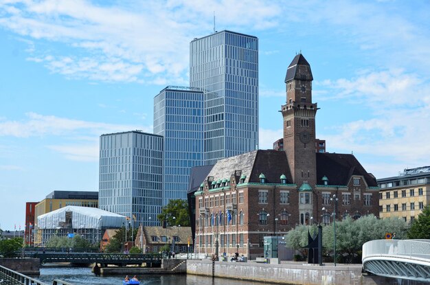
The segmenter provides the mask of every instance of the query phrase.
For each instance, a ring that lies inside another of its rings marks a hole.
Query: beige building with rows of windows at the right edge
[[[398,176],[378,179],[379,216],[401,217],[413,223],[430,201],[430,166],[405,169]]]

